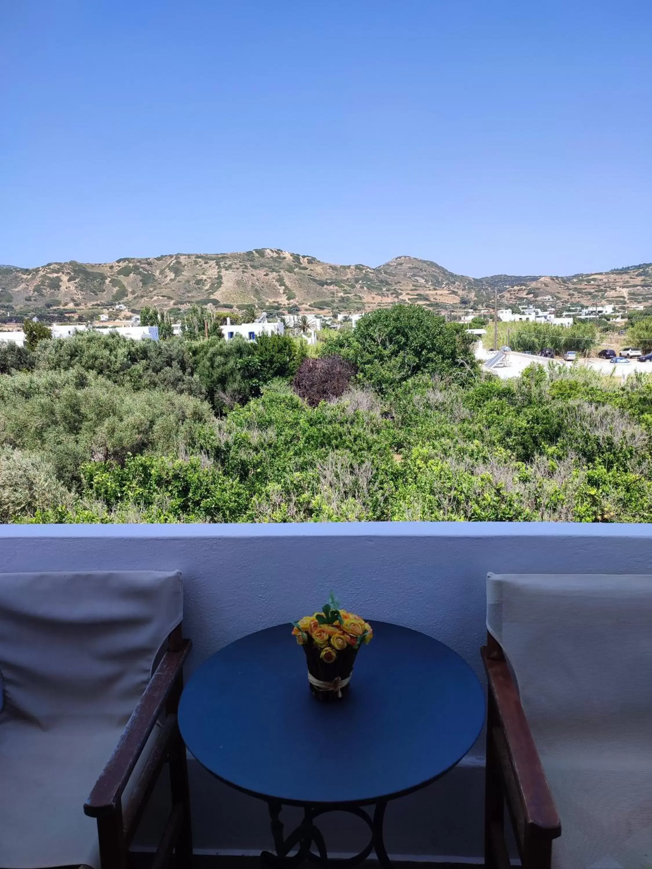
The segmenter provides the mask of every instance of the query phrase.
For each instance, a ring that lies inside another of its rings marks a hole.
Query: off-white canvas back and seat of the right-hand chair
[[[562,820],[553,866],[652,866],[652,576],[489,574],[487,603]]]

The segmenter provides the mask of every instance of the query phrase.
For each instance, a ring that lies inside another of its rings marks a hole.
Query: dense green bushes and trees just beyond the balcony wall
[[[200,332],[0,345],[0,521],[652,521],[648,377],[499,381],[408,305]]]

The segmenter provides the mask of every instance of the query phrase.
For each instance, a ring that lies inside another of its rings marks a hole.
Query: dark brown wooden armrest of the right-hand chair
[[[489,683],[489,701],[493,699],[497,713],[497,733],[491,733],[490,738],[495,739],[505,779],[516,786],[526,826],[523,832],[556,839],[562,834],[562,826],[555,801],[515,681],[502,649],[499,646],[498,649],[500,651],[496,653],[493,644],[491,648],[482,648],[482,660]]]

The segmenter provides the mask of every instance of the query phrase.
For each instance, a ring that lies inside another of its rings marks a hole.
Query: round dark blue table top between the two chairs
[[[290,625],[230,643],[183,690],[186,746],[218,779],[290,805],[364,805],[437,779],[480,733],[480,683],[432,637],[386,622],[372,627],[349,693],[336,703],[310,693]]]

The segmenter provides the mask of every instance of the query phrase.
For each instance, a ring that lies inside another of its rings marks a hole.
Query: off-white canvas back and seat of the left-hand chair
[[[182,611],[178,573],[0,574],[0,866],[99,866],[83,803]]]

